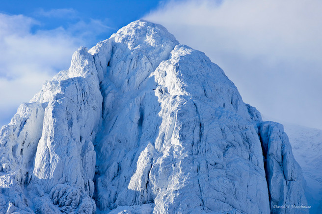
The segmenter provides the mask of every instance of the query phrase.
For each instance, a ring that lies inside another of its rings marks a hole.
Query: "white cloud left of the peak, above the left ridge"
[[[69,68],[78,47],[91,44],[107,29],[99,20],[80,20],[67,28],[33,32],[39,24],[23,15],[0,13],[0,126],[41,89],[44,80]]]

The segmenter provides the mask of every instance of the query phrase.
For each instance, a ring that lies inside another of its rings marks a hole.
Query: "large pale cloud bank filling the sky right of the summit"
[[[264,115],[322,128],[322,1],[169,1],[143,19],[204,51]]]

